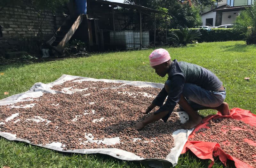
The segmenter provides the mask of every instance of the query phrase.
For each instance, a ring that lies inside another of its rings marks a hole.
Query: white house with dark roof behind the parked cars
[[[251,6],[253,0],[222,0],[216,2],[211,8],[205,8],[201,15],[202,26],[220,26],[232,24],[245,6]]]

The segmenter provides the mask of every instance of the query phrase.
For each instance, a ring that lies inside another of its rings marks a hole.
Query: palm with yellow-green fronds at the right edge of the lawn
[[[246,36],[246,43],[256,44],[256,5],[255,0],[251,7],[239,12],[234,21],[234,30],[242,31]]]

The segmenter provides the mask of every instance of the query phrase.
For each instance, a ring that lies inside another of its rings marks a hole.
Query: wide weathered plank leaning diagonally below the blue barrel
[[[64,38],[60,41],[60,43],[56,46],[56,49],[59,51],[63,51],[65,45],[68,43],[72,35],[76,32],[76,29],[78,26],[82,23],[82,15],[79,15],[74,22],[74,24],[71,26],[71,28],[68,30],[68,33],[64,36]]]

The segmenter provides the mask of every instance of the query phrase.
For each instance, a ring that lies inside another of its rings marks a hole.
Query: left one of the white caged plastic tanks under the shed
[[[131,30],[116,31],[115,38],[114,38],[114,31],[111,31],[110,43],[116,44],[118,48],[133,49],[134,48],[133,31]]]

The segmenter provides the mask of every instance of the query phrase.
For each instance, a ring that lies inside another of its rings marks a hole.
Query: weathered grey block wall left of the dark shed
[[[57,12],[53,15],[50,11],[44,11],[39,15],[36,10],[30,7],[4,7],[0,11],[0,25],[2,37],[0,37],[0,55],[12,50],[21,50],[28,47],[26,42],[35,40],[42,20],[42,34],[48,40],[62,23],[65,21],[63,13]]]

